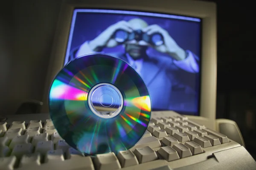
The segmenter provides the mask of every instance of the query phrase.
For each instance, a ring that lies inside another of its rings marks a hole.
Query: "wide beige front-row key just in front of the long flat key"
[[[157,160],[157,153],[149,146],[135,149],[134,155],[137,157],[140,164]]]

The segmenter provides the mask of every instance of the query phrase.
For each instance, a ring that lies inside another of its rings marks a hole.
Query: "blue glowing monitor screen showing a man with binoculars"
[[[92,53],[128,62],[148,86],[153,111],[199,115],[200,18],[75,9],[64,64]]]

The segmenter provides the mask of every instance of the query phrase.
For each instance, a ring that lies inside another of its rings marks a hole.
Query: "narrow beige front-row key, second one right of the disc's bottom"
[[[117,158],[121,167],[130,167],[139,164],[136,156],[131,152],[131,150],[120,151],[117,154]]]

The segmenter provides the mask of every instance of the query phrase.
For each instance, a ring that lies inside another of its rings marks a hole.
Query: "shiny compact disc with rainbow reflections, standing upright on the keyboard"
[[[49,91],[49,113],[59,135],[82,153],[128,150],[151,118],[145,82],[125,61],[91,54],[70,61]]]

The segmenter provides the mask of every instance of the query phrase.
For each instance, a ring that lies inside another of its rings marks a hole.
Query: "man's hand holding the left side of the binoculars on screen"
[[[90,49],[92,49],[93,51],[100,51],[100,49],[104,47],[113,48],[119,45],[119,43],[112,38],[113,34],[118,29],[122,29],[127,32],[133,32],[133,29],[128,22],[124,20],[119,21],[118,23],[109,26],[98,37],[91,40],[89,43]]]

